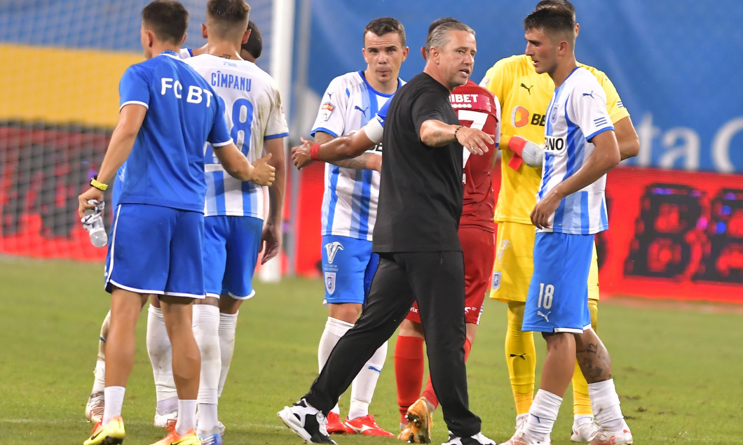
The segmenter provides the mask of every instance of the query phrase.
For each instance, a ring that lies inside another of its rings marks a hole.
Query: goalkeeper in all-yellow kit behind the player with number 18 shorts
[[[536,9],[568,7],[566,0],[542,0]],[[580,25],[575,25],[577,35]],[[596,76],[606,93],[606,108],[614,123],[622,159],[636,156],[640,142],[629,112],[622,105],[609,78],[594,67],[579,64]],[[505,357],[516,401],[516,427],[528,417],[533,400],[536,352],[533,333],[522,332],[524,307],[533,272],[535,228],[530,214],[536,205],[545,140],[545,115],[554,92],[554,82],[547,73],[537,74],[529,56],[510,56],[487,70],[480,84],[490,90],[502,104],[501,189],[496,204],[498,225],[496,258],[493,266],[493,288],[490,298],[508,304],[508,326]],[[510,119],[509,119],[510,116]],[[506,149],[507,148],[507,149]],[[599,299],[596,248],[588,276],[588,307],[591,325],[596,329]],[[588,398],[588,383],[576,366],[573,376],[574,424],[571,439],[587,442],[597,426]]]

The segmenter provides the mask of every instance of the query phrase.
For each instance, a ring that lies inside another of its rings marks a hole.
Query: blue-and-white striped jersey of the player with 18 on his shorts
[[[606,111],[606,93],[596,77],[577,67],[552,96],[545,125],[545,162],[536,200],[574,175],[594,152],[590,142],[598,133],[614,130]],[[606,175],[565,197],[552,215],[550,228],[563,234],[595,234],[609,228],[606,214]]]

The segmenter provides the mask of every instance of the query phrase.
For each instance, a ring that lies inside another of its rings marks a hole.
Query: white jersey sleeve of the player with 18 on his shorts
[[[568,118],[580,127],[588,142],[598,133],[614,130],[606,111],[606,95],[594,76],[585,76],[568,101]]]

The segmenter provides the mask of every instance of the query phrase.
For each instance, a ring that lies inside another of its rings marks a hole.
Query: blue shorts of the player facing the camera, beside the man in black
[[[371,251],[371,241],[325,235],[322,237],[322,273],[328,303],[366,301],[371,278],[377,271],[379,255]]]

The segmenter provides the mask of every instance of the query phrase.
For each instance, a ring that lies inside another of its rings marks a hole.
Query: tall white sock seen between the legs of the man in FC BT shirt
[[[166,412],[159,409],[160,401],[178,398],[173,380],[173,350],[165,329],[163,311],[152,305],[147,310],[147,354],[152,363],[152,376],[155,378],[158,412],[165,414]]]

